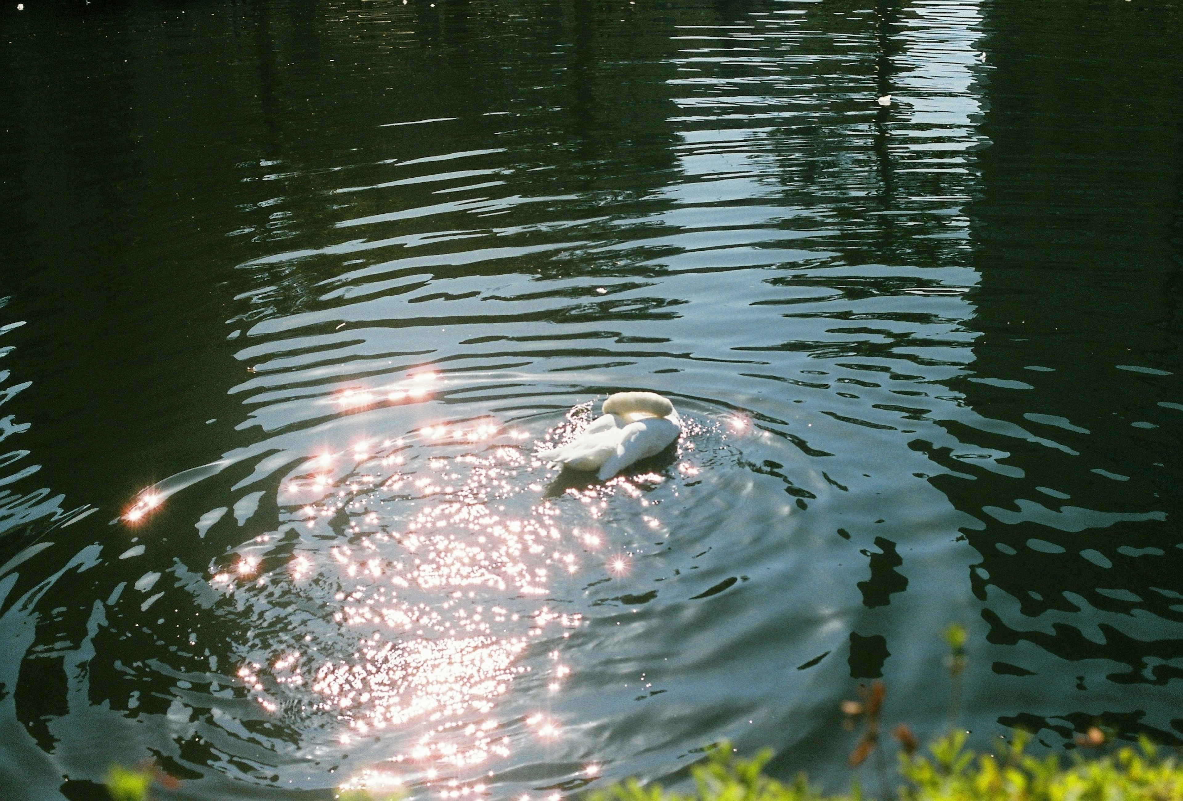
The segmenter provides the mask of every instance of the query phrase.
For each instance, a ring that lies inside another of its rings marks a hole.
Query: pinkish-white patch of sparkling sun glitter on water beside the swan
[[[420,375],[446,388],[437,373]],[[341,406],[353,414],[373,401]],[[306,732],[305,749],[319,741],[383,755],[347,787],[446,781],[445,793],[479,793],[516,741],[563,737],[560,716],[506,719],[498,699],[537,671],[554,706],[573,678],[564,641],[587,625],[570,599],[671,542],[662,504],[698,483],[704,448],[743,429],[687,418],[683,440],[648,469],[589,485],[532,454],[575,435],[592,407],[549,428],[551,415],[476,418],[321,450],[279,480],[278,528],[211,567],[227,619],[285,618],[234,638],[247,696]]]

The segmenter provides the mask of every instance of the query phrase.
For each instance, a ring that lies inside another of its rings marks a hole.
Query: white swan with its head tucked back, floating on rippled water
[[[603,402],[603,416],[562,447],[538,458],[570,470],[596,471],[607,480],[621,470],[668,447],[681,420],[668,399],[652,392],[618,392]]]

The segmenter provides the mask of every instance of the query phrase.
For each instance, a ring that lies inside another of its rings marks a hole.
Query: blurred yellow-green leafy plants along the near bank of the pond
[[[1080,749],[1097,749],[1095,756],[1081,756],[1064,766],[1056,754],[1042,760],[1026,752],[1032,735],[1016,730],[997,754],[977,754],[965,748],[967,734],[956,729],[961,709],[961,678],[965,671],[965,629],[953,624],[944,632],[950,653],[945,666],[951,678],[949,699],[950,734],[935,739],[922,752],[919,742],[905,723],[892,729],[899,745],[897,779],[890,775],[881,743],[883,708],[887,690],[883,682],[858,687],[859,700],[841,704],[846,729],[859,730],[859,739],[847,760],[858,769],[874,757],[872,766],[878,793],[868,793],[858,777],[845,794],[827,794],[809,783],[804,773],[789,782],[768,776],[764,766],[772,749],[763,749],[745,760],[735,755],[726,741],[706,749],[706,758],[691,768],[693,789],[667,790],[654,782],[642,784],[635,777],[594,790],[587,801],[1183,801],[1183,762],[1171,752],[1142,737],[1138,747],[1123,745],[1104,752],[1112,732],[1092,726],[1075,739]],[[899,782],[903,779],[903,782]],[[180,782],[154,763],[128,769],[115,766],[106,776],[112,801],[151,801],[154,784],[175,789]],[[401,801],[403,788],[367,790],[342,789],[338,801]]]

